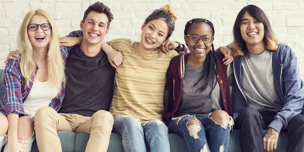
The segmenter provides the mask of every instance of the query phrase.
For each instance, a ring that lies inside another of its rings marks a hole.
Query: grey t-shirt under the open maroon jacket
[[[207,117],[210,112],[222,109],[220,89],[218,81],[215,78],[216,86],[212,91],[212,80],[209,80],[205,90],[198,90],[204,86],[206,76],[201,80],[203,66],[185,65],[184,79],[182,82],[182,93],[179,106],[176,111],[176,116],[196,115],[197,117]],[[196,86],[195,84],[201,80]]]

